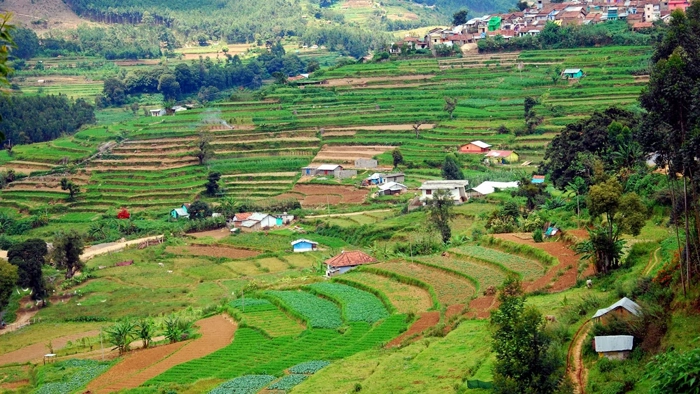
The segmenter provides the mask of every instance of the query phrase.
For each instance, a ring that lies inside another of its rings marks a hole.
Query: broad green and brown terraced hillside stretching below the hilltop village
[[[4,152],[3,168],[32,177],[3,189],[0,206],[25,212],[52,206],[50,211],[60,212],[51,215],[55,221],[84,213],[78,221],[89,222],[95,217],[89,213],[119,207],[165,217],[203,191],[208,171],[223,174],[226,195],[234,198],[358,204],[367,201],[365,194],[295,186],[300,168],[314,158],[340,162],[352,155],[374,155],[381,166],[391,167],[386,149],[400,146],[412,164],[405,169],[407,182],[415,186],[439,177],[445,153],[475,139],[515,149],[521,162],[536,165],[563,125],[612,104],[636,105],[645,80],[635,75],[649,54],[646,47],[606,47],[347,65],[314,76],[327,85],[270,87],[259,101],[213,103],[166,117],[108,117],[73,136],[18,146],[12,156]],[[516,67],[520,63],[522,70]],[[547,72],[551,66],[580,67],[586,77],[553,80]],[[454,119],[443,110],[445,96],[458,98]],[[523,128],[526,96],[539,100],[535,110],[544,120],[538,132],[497,134],[500,125]],[[200,134],[211,139],[216,153],[206,166],[195,157]],[[75,201],[66,201],[67,193],[58,187],[64,175],[81,185]],[[467,175],[473,182],[484,176]]]

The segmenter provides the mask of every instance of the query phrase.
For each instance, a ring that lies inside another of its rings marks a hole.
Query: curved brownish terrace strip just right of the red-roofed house
[[[467,303],[476,294],[472,282],[438,268],[405,261],[390,261],[373,267],[422,280],[433,287],[440,303],[445,306]]]

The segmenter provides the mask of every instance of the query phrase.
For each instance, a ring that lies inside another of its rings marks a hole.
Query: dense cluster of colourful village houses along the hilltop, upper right
[[[594,0],[585,3],[537,0],[533,7],[523,11],[484,15],[450,29],[435,28],[423,37],[404,37],[392,43],[390,52],[401,53],[404,47],[413,50],[432,50],[438,45],[461,47],[495,36],[506,40],[534,36],[547,22],[567,26],[625,20],[633,29],[640,30],[652,27],[658,20],[668,23],[673,10],[685,10],[688,6],[690,0]]]

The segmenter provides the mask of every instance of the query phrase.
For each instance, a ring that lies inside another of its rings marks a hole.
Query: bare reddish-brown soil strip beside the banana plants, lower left
[[[121,380],[111,384],[107,383],[108,386],[100,387],[97,392],[112,393],[124,389],[136,388],[147,380],[160,375],[176,365],[213,353],[231,343],[233,334],[238,327],[235,322],[231,321],[230,318],[225,315],[216,315],[199,320],[197,326],[199,326],[199,332],[202,334],[201,337],[185,343],[182,347],[171,353],[170,356],[162,356],[162,354],[154,353],[154,356],[160,357],[152,358],[152,363],[149,366],[140,370],[133,370],[134,372],[138,371],[136,374],[128,376],[122,375]],[[117,364],[117,366],[124,364],[126,361],[127,360],[122,361]],[[144,358],[142,361],[144,362],[143,365],[148,365],[146,364],[147,358]],[[122,368],[128,367],[125,366]],[[111,374],[112,376],[119,376],[118,374],[112,374],[112,369],[107,371],[105,375]],[[114,381],[114,379],[110,378],[110,381]]]

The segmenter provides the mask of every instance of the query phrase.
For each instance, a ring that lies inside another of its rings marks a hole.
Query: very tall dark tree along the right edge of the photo
[[[646,153],[668,167],[674,224],[685,234],[679,245],[686,276],[700,272],[700,4],[675,10],[652,56],[648,86],[640,102],[647,110],[639,138]],[[680,174],[681,177],[677,177]]]

